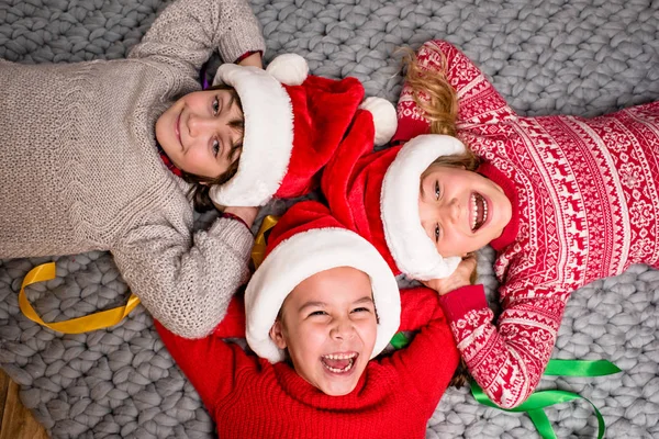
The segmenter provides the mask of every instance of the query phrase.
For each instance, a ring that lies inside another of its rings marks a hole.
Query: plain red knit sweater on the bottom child
[[[244,334],[239,318],[197,340],[156,328],[222,439],[424,438],[459,356],[437,293],[402,291],[401,301],[401,329],[421,331],[407,348],[371,360],[345,396],[325,395],[286,362],[270,364],[225,344],[220,337]]]

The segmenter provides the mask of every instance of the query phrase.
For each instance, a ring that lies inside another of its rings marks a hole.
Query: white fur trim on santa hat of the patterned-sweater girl
[[[421,175],[439,156],[461,154],[465,145],[455,137],[426,134],[401,148],[384,173],[380,213],[384,238],[398,268],[422,281],[449,277],[459,257],[443,258],[426,235],[418,216]]]

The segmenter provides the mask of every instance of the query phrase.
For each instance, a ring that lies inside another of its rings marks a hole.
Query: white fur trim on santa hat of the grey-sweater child
[[[281,83],[256,67],[223,64],[213,86],[236,89],[243,103],[245,135],[236,175],[213,185],[211,199],[225,206],[259,206],[279,189],[293,149],[293,109]]]

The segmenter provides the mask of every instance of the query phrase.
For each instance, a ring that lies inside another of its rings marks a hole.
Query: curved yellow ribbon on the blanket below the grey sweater
[[[57,322],[57,323],[45,323],[38,314],[34,311],[27,296],[25,295],[25,286],[36,282],[45,282],[55,279],[55,262],[42,263],[36,266],[25,279],[21,285],[21,292],[19,293],[19,306],[25,315],[32,322],[36,322],[46,328],[56,330],[64,334],[81,334],[90,330],[103,329],[110,326],[114,326],[120,323],[125,316],[129,315],[135,306],[139,303],[139,299],[135,294],[131,294],[129,302],[124,306],[116,308],[101,311],[100,313],[90,314],[83,317],[71,318],[70,320]]]

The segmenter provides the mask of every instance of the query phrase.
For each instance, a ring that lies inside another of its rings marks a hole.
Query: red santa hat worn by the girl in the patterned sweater
[[[435,159],[461,154],[465,145],[450,136],[422,135],[404,146],[364,154],[359,142],[354,127],[323,172],[321,188],[332,214],[373,244],[395,274],[447,278],[460,258],[443,258],[421,225],[420,183]]]

